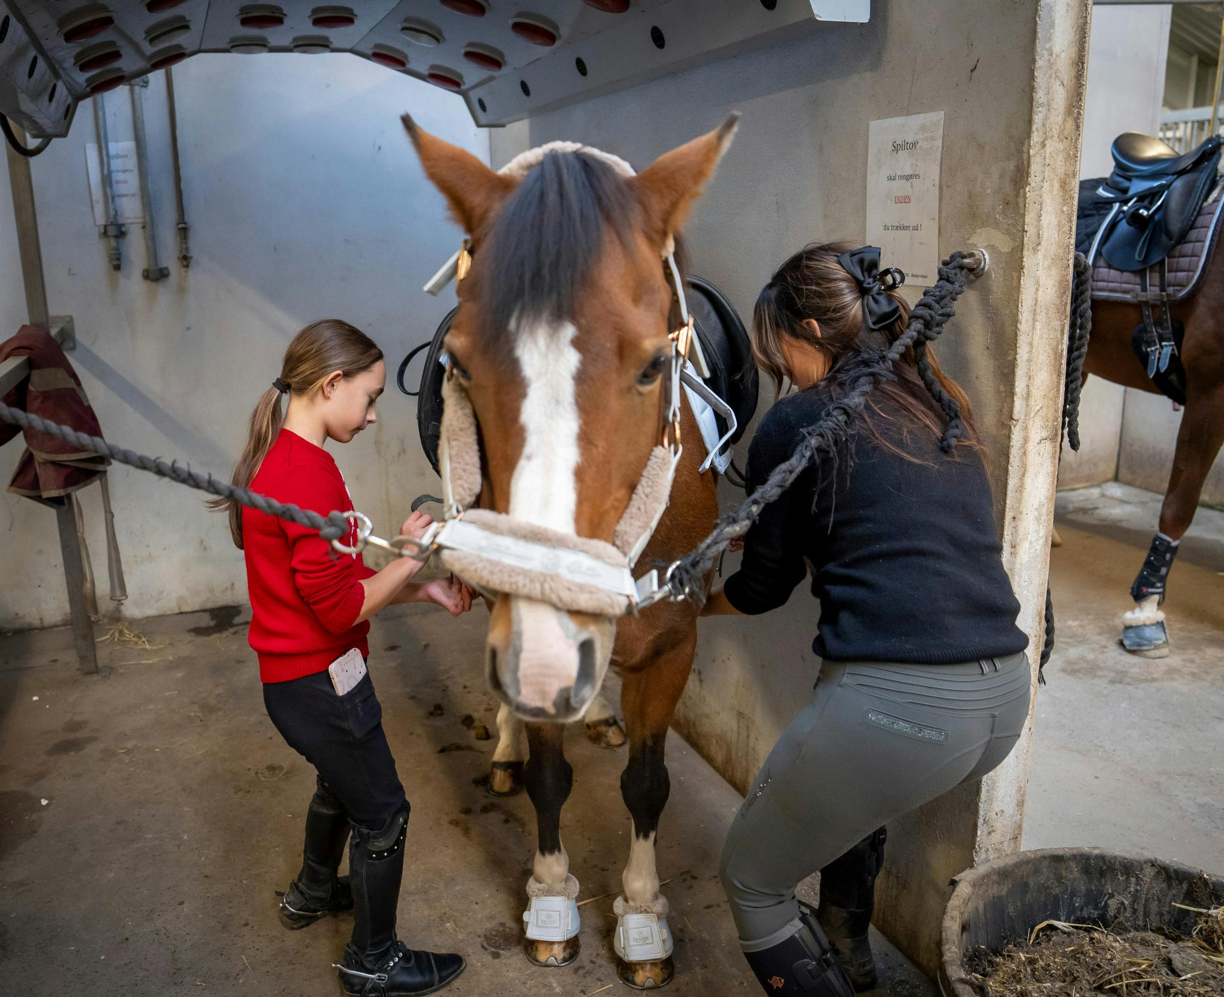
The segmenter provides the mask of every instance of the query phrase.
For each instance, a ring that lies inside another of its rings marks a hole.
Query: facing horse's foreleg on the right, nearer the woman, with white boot
[[[639,990],[663,986],[674,973],[667,898],[659,892],[655,840],[671,779],[663,763],[671,725],[696,650],[696,631],[640,672],[625,674],[622,702],[629,728],[629,763],[621,795],[633,818],[633,840],[622,883],[613,947],[621,980]]]

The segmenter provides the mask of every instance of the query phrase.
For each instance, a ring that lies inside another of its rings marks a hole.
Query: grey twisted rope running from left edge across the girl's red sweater
[[[245,505],[248,509],[257,509],[261,513],[267,513],[269,516],[277,516],[278,519],[286,520],[288,522],[296,522],[299,526],[305,526],[308,530],[318,530],[318,535],[326,541],[339,539],[340,537],[348,536],[351,528],[343,513],[332,511],[326,516],[322,516],[318,513],[310,509],[301,509],[291,503],[277,502],[274,498],[261,495],[257,492],[252,492],[250,488],[239,488],[236,484],[218,481],[212,475],[201,475],[198,471],[192,471],[190,467],[186,467],[176,461],[166,464],[160,458],[149,458],[143,454],[137,454],[124,447],[116,447],[113,443],[106,443],[106,440],[102,437],[91,437],[87,433],[81,433],[73,429],[71,426],[61,426],[58,422],[50,422],[33,415],[32,412],[23,412],[21,409],[13,409],[5,405],[2,401],[0,401],[0,418],[5,422],[20,426],[22,429],[37,429],[40,433],[47,433],[58,439],[62,439],[81,450],[102,454],[103,456],[109,456],[111,460],[119,461],[120,464],[126,464],[130,467],[138,467],[141,471],[148,471],[158,477],[170,478],[170,481],[176,481],[179,484],[186,484],[188,488],[196,488],[201,492],[220,495],[230,502],[236,502],[239,505]]]

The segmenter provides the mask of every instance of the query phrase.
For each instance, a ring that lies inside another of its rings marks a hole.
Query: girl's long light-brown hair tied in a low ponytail
[[[280,363],[279,380],[289,385],[291,394],[310,396],[337,371],[345,377],[355,377],[382,358],[382,350],[360,329],[338,318],[324,318],[312,322],[294,336]],[[284,421],[280,388],[272,385],[259,396],[251,412],[246,447],[230,480],[234,484],[241,488],[250,486],[275,443]],[[229,513],[230,535],[234,537],[234,546],[241,550],[242,506],[224,498],[215,498],[208,505]]]

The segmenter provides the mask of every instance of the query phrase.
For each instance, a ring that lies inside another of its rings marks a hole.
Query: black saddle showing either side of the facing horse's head
[[[693,327],[701,344],[710,377],[706,385],[721,398],[736,413],[737,429],[731,438],[736,443],[743,434],[753,415],[756,412],[756,393],[759,374],[753,362],[752,343],[739,313],[727,301],[726,296],[709,280],[689,276],[684,285],[688,290],[689,312],[693,314]],[[450,323],[454,322],[453,308],[438,325],[433,339],[416,346],[399,365],[395,383],[405,395],[416,398],[416,429],[421,437],[421,449],[430,459],[433,470],[438,470],[438,438],[442,435],[442,374],[439,361]],[[425,367],[417,389],[411,391],[404,382],[409,363],[417,354],[425,354]],[[726,433],[727,426],[718,416],[718,432]]]

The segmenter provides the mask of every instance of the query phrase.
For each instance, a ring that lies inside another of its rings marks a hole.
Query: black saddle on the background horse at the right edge
[[[1097,239],[1119,270],[1147,270],[1164,259],[1215,190],[1224,138],[1212,136],[1185,155],[1159,138],[1126,132],[1114,139],[1114,171],[1097,191],[1114,209]],[[1082,218],[1081,209],[1081,218]]]

